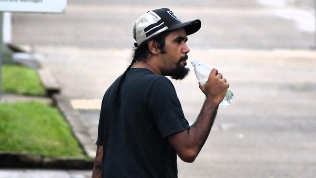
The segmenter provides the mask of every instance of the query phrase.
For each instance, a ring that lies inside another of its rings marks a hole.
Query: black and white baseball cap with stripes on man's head
[[[199,19],[182,22],[168,8],[148,11],[138,18],[133,27],[133,38],[136,40],[135,46],[140,46],[142,42],[166,31],[184,28],[187,35],[197,32],[201,28]]]

